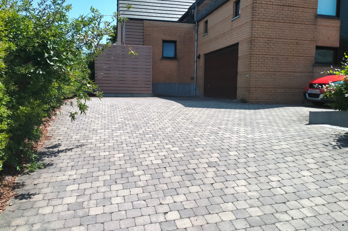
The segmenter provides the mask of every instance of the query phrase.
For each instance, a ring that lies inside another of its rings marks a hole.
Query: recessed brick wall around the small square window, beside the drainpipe
[[[152,47],[152,82],[193,83],[194,24],[144,21],[144,46]],[[162,40],[176,40],[177,60],[162,59]]]

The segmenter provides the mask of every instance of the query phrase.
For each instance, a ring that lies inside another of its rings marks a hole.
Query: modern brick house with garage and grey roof
[[[129,20],[118,42],[152,47],[153,95],[301,103],[308,80],[348,50],[347,10],[343,0],[119,0]]]

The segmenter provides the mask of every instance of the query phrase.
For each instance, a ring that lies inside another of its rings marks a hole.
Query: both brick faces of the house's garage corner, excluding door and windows
[[[317,0],[229,1],[199,23],[197,81],[204,91],[205,53],[239,42],[237,99],[301,103],[308,80],[330,67],[314,66],[316,46],[339,46],[340,21],[317,18]],[[203,34],[208,20],[208,34]],[[248,77],[247,77],[248,76]]]

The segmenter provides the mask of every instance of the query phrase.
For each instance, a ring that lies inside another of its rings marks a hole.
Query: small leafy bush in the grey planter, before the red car
[[[342,81],[330,82],[325,86],[325,97],[335,99],[335,102],[330,106],[335,110],[348,111],[348,56],[342,62],[341,69],[335,69],[327,73],[345,76]]]

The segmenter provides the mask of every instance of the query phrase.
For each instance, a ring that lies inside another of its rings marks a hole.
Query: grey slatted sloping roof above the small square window
[[[119,0],[119,13],[129,19],[177,21],[195,0]],[[132,5],[126,11],[125,5]]]

